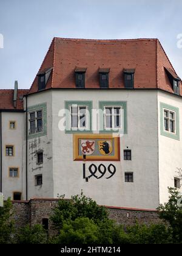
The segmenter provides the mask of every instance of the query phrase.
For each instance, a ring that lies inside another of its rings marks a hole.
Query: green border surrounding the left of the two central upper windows
[[[68,113],[66,112],[66,129],[65,129],[65,133],[88,133],[91,132],[92,133],[92,101],[65,101],[64,102],[65,105],[65,109],[69,110],[70,109],[70,105],[87,105],[88,107],[88,111],[89,111],[89,129],[70,129],[70,116],[68,115]]]

